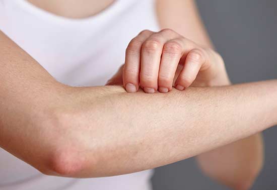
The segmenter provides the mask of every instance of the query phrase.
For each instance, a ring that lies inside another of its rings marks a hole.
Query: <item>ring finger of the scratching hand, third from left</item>
[[[165,43],[162,52],[158,86],[160,92],[168,92],[172,89],[173,79],[183,53],[182,40],[174,39]]]

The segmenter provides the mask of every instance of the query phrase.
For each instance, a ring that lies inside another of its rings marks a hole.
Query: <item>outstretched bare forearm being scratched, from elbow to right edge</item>
[[[53,168],[62,175],[107,176],[154,168],[277,123],[275,80],[167,94],[126,93],[118,86],[71,88],[68,93],[66,102],[75,104],[59,106],[58,125],[49,132],[66,141],[58,143],[63,151],[53,153],[58,157]],[[60,163],[64,155],[74,158],[70,167]],[[76,162],[80,168],[71,170]]]

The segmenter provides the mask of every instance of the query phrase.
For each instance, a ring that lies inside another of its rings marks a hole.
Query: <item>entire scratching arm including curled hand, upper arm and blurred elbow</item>
[[[193,1],[159,1],[157,10],[163,28],[174,29],[201,45],[191,45],[174,31],[143,31],[131,40],[126,50],[122,73],[122,83],[126,90],[133,92],[141,86],[145,92],[167,92],[172,89],[172,84],[183,90],[192,82],[193,86],[230,85],[224,63],[212,58],[216,56],[209,50],[213,45],[201,24]],[[147,50],[149,46],[151,52]],[[180,74],[175,74],[178,63],[180,67],[184,65],[184,68],[179,69]],[[173,82],[174,76],[175,80],[178,77],[176,82]],[[111,82],[120,84],[117,80],[114,78]],[[248,189],[262,167],[261,134],[203,153],[197,156],[197,161],[210,177],[233,189]]]

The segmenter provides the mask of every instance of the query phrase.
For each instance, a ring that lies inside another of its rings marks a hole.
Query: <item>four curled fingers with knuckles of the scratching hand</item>
[[[194,49],[192,49],[194,48]],[[160,32],[143,31],[132,39],[126,49],[123,84],[127,92],[141,86],[146,93],[172,89],[180,60],[184,67],[175,86],[184,90],[195,80],[205,63],[203,49],[170,29]]]

